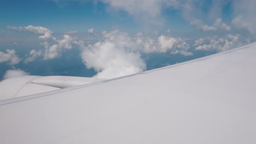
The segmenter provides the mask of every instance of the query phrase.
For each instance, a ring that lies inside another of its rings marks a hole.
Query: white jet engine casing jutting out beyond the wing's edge
[[[0,82],[0,101],[24,97],[27,95],[56,91],[61,88],[74,87],[103,81],[95,77],[77,76],[20,76],[11,77]]]

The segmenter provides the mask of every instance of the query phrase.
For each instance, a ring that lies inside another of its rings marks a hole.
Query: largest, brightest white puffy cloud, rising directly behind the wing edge
[[[146,64],[138,51],[133,50],[133,42],[126,33],[113,31],[103,33],[104,41],[82,49],[82,59],[86,67],[98,71],[96,77],[112,79],[146,70]]]

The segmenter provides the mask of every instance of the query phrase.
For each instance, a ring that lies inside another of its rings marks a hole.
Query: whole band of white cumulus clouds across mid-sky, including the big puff
[[[197,24],[205,25],[200,20]],[[195,24],[195,23],[194,23]],[[193,25],[194,25],[193,24]],[[203,31],[215,31],[223,29],[230,31],[230,27],[225,25],[221,19],[217,19],[213,26],[200,26]],[[146,63],[141,57],[141,53],[171,53],[183,56],[192,56],[194,51],[226,51],[235,47],[248,44],[248,39],[242,38],[239,34],[226,34],[224,37],[205,37],[195,41],[187,38],[173,37],[171,30],[167,29],[166,34],[155,33],[147,36],[143,33],[131,34],[114,29],[111,32],[103,31],[99,35],[94,29],[88,29],[91,33],[89,37],[95,37],[96,42],[91,43],[86,40],[77,40],[76,37],[63,34],[63,39],[57,39],[53,32],[44,27],[7,27],[15,31],[30,31],[38,34],[38,39],[42,40],[42,50],[31,50],[24,58],[24,63],[29,63],[42,57],[43,60],[61,57],[63,51],[80,47],[83,63],[87,68],[93,68],[98,73],[96,77],[102,79],[112,79],[146,70]],[[72,32],[73,33],[73,32]],[[94,34],[92,34],[94,33]],[[192,49],[191,49],[192,47]],[[15,50],[0,52],[0,63],[8,62],[17,64],[21,58],[16,56]]]

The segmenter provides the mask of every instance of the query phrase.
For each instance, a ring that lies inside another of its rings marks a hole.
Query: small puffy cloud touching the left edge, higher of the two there
[[[0,51],[0,63],[9,62],[8,64],[14,65],[18,64],[20,61],[21,59],[18,56],[16,56],[15,50],[7,49],[5,52]]]

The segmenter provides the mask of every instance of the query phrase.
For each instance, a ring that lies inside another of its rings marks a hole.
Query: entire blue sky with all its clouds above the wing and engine
[[[1,79],[9,69],[110,79],[255,41],[254,0],[0,3]]]

